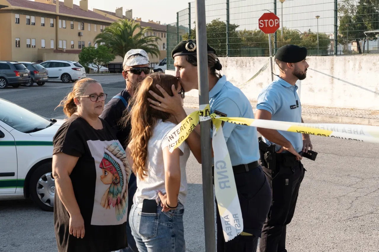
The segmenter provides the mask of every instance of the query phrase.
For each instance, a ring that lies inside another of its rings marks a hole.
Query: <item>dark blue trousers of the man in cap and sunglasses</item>
[[[134,173],[130,174],[130,179],[128,183],[128,216],[130,215],[130,210],[132,209],[133,205],[133,198],[134,194],[137,190],[137,179]],[[136,247],[136,241],[134,240],[134,237],[132,235],[132,231],[130,230],[129,221],[126,223],[126,235],[128,238],[128,247],[125,249],[120,249],[114,252],[138,252],[138,249]]]

